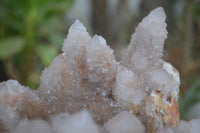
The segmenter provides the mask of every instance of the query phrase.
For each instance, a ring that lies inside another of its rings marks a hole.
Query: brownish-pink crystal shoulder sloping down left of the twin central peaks
[[[73,73],[71,73],[71,70],[69,69],[65,56],[60,54],[52,61],[51,65],[42,72],[41,84],[37,89],[37,92],[39,95],[47,97],[49,95],[56,96],[55,92],[59,95],[65,94],[65,91],[70,89],[61,90],[61,88],[72,88],[72,86],[70,86],[73,81],[72,77]],[[65,84],[68,86],[65,86]]]

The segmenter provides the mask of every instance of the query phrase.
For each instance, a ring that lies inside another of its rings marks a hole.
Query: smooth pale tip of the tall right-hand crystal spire
[[[154,21],[164,22],[166,20],[166,14],[162,7],[154,9],[148,16]]]

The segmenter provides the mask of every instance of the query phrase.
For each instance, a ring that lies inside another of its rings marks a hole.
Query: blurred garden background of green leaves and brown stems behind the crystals
[[[200,118],[200,0],[0,0],[0,81],[36,89],[75,19],[120,60],[135,27],[158,6],[167,14],[163,58],[181,75],[181,118]]]

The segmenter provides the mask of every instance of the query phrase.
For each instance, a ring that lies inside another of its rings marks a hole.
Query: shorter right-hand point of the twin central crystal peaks
[[[86,45],[86,62],[89,81],[108,82],[115,78],[116,61],[113,50],[102,36],[95,35]]]

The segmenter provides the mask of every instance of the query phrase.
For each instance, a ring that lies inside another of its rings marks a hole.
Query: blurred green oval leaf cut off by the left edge
[[[7,59],[18,52],[25,46],[25,40],[22,37],[9,37],[0,41],[0,59]]]

